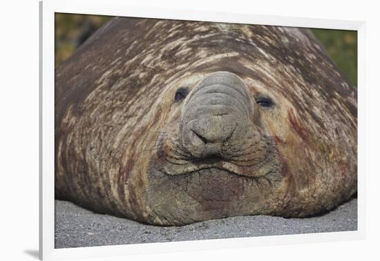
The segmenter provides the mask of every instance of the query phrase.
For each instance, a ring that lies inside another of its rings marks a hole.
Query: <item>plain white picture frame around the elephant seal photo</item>
[[[268,246],[274,244],[298,244],[305,242],[332,242],[358,240],[365,237],[365,23],[363,21],[341,21],[309,19],[300,17],[274,17],[255,14],[222,12],[199,12],[192,10],[170,10],[169,8],[140,8],[128,6],[122,0],[99,1],[43,1],[40,2],[40,177],[39,177],[39,257],[43,260],[68,258],[101,258],[133,255],[138,253],[167,253],[206,249]],[[54,199],[54,122],[55,122],[55,12],[75,14],[99,14],[123,17],[159,19],[182,19],[193,21],[215,21],[229,23],[254,23],[272,26],[296,26],[307,28],[329,28],[357,30],[358,32],[358,230],[312,233],[303,235],[277,235],[258,238],[229,238],[188,242],[164,242],[154,244],[129,244],[104,247],[78,247],[55,249],[55,199]]]

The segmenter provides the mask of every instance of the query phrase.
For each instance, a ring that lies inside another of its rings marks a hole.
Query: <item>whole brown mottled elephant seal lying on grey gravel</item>
[[[357,191],[357,90],[303,28],[115,18],[55,72],[55,195],[158,225]]]

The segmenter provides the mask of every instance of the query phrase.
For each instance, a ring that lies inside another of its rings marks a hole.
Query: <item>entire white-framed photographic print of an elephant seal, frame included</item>
[[[40,19],[40,258],[363,238],[363,22]]]

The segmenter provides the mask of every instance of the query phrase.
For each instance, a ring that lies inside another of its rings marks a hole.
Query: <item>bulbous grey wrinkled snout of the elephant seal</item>
[[[221,155],[244,137],[253,108],[247,88],[231,72],[214,72],[189,94],[182,113],[182,145],[196,158]]]

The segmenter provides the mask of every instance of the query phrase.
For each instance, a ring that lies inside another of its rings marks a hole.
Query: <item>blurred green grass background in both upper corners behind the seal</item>
[[[55,67],[62,64],[97,28],[113,17],[55,13]],[[357,86],[357,31],[311,29],[354,86]]]

